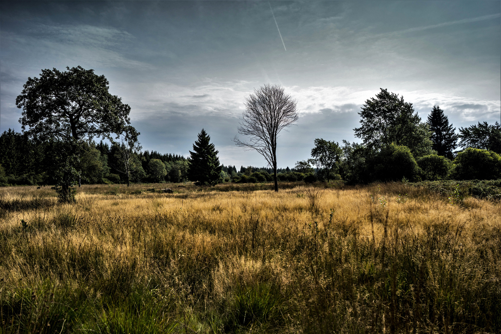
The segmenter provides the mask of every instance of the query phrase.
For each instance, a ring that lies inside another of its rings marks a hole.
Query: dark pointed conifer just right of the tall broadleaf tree
[[[449,125],[449,119],[444,115],[439,106],[433,106],[426,121],[431,131],[432,148],[438,155],[452,159],[452,150],[457,147],[459,135],[455,133],[456,128]]]

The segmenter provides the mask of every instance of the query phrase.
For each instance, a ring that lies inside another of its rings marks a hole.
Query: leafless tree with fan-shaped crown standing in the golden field
[[[245,111],[242,114],[238,133],[247,136],[248,141],[233,138],[236,146],[245,150],[256,150],[273,167],[275,191],[279,191],[277,182],[277,136],[282,129],[290,127],[298,119],[297,102],[284,93],[279,85],[267,84],[254,90],[245,98]],[[286,129],[287,131],[287,129]]]

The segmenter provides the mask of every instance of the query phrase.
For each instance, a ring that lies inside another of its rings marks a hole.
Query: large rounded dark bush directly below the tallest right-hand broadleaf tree
[[[403,177],[414,180],[419,167],[409,148],[390,144],[374,157],[374,179],[400,181]]]

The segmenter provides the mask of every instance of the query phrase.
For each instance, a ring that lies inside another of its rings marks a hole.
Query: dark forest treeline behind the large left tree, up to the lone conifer
[[[55,184],[60,166],[68,158],[68,144],[45,141],[37,143],[26,133],[9,129],[0,135],[0,185]],[[81,183],[126,183],[120,144],[103,141],[82,142],[77,167]],[[144,151],[131,157],[131,182],[182,182],[186,179],[187,161],[182,155]],[[165,174],[158,179],[158,162]]]

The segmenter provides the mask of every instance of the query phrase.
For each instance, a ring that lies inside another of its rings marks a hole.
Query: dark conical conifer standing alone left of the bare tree
[[[188,159],[188,177],[196,181],[195,185],[214,185],[219,179],[222,166],[214,144],[210,144],[210,136],[204,129],[198,134],[198,140],[193,144],[193,151]]]

